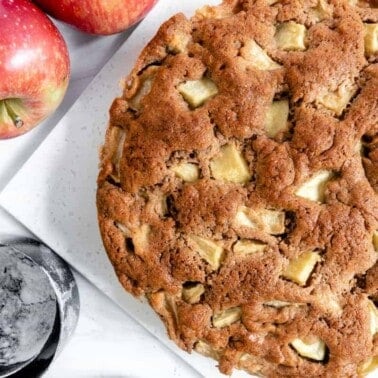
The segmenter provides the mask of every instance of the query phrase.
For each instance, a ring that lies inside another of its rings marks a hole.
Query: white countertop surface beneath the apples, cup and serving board
[[[126,40],[85,35],[56,22],[71,56],[71,82],[58,111],[30,133],[0,141],[0,191]],[[25,209],[27,211],[27,208]],[[0,208],[0,233],[31,236]],[[81,313],[73,338],[45,375],[58,377],[197,377],[198,374],[75,272]],[[219,376],[218,374],[216,374]]]

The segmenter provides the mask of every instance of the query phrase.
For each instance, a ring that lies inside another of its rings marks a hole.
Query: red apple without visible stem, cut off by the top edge
[[[126,30],[157,0],[34,0],[45,12],[78,29],[98,35]]]

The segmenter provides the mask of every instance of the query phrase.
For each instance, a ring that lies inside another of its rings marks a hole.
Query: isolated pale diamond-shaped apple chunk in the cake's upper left
[[[193,109],[203,105],[210,98],[218,93],[216,84],[206,77],[200,80],[189,80],[180,84],[178,91],[184,100]]]

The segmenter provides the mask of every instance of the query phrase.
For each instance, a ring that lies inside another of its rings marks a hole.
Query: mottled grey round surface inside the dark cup
[[[36,357],[54,325],[56,296],[42,268],[0,247],[0,366]]]

